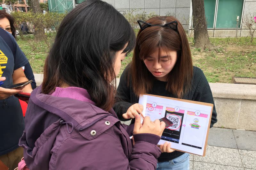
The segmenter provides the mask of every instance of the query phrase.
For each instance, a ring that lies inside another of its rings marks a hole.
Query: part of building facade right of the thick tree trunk
[[[204,0],[204,8],[209,37],[249,36],[245,20],[256,16],[256,0]]]

